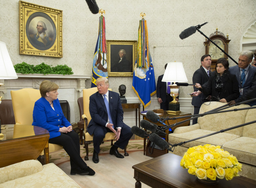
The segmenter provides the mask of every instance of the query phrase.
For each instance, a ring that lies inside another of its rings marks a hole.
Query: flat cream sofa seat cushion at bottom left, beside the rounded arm
[[[53,163],[49,163],[43,166],[44,169],[35,174],[25,176],[23,178],[13,179],[5,183],[0,184],[0,188],[7,187],[72,187],[81,188],[73,179],[71,179],[65,172]]]

